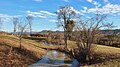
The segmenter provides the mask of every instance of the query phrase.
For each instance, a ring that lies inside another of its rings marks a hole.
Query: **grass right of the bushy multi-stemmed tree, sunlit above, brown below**
[[[102,61],[95,64],[85,65],[82,67],[120,67],[120,48],[97,45],[95,53]]]

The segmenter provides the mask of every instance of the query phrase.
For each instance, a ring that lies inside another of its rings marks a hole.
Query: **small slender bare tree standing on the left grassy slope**
[[[20,49],[22,48],[22,35],[24,34],[25,28],[28,24],[23,24],[22,22],[19,22],[18,24],[18,31],[19,31],[19,41],[20,41]]]

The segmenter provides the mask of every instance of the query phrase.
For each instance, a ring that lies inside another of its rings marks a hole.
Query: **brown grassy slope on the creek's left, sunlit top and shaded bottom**
[[[33,40],[22,39],[22,49],[19,49],[18,37],[0,34],[0,67],[23,67],[37,62],[45,55],[45,50],[33,46],[33,43],[38,44]],[[8,56],[9,54],[11,56]]]

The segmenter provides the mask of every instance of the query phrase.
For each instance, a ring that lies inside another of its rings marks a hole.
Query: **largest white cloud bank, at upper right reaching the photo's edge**
[[[120,13],[120,5],[117,4],[106,4],[105,6],[99,8],[86,8],[83,7],[84,10],[80,10],[82,13],[99,13],[99,14],[109,14],[109,15],[119,15]]]

